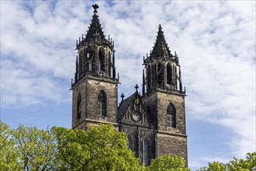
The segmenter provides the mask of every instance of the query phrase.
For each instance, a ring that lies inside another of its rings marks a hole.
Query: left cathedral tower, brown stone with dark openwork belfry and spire
[[[72,127],[117,123],[117,83],[114,41],[105,38],[93,5],[86,36],[76,42],[75,82],[72,82]]]

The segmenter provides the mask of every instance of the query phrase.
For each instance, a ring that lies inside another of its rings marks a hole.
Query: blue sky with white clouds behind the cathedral
[[[2,121],[71,127],[75,40],[88,30],[94,3],[1,1]],[[177,51],[191,169],[256,151],[254,1],[96,3],[115,44],[119,95],[142,84],[142,58],[153,50],[159,24]]]

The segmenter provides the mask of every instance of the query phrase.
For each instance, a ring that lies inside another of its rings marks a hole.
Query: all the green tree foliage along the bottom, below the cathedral
[[[163,155],[150,166],[139,165],[139,159],[128,149],[124,132],[109,124],[90,127],[87,131],[52,127],[11,129],[0,120],[1,170],[146,170],[188,171],[183,158]],[[233,158],[224,164],[209,162],[198,171],[251,171],[256,166],[256,152],[245,159]]]

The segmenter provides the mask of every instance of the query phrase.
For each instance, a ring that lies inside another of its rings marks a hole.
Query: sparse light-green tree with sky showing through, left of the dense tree
[[[16,142],[19,169],[41,171],[54,169],[57,145],[48,128],[44,131],[38,130],[37,127],[19,125],[16,130],[12,130],[12,138]]]

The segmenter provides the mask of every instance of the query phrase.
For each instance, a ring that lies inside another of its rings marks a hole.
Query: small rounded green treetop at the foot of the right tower
[[[150,162],[150,171],[189,171],[185,167],[185,160],[177,155],[162,155]]]

